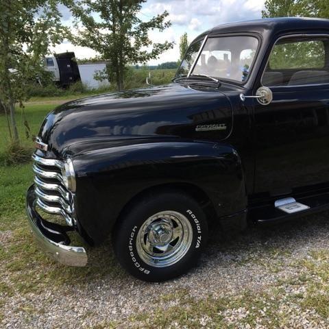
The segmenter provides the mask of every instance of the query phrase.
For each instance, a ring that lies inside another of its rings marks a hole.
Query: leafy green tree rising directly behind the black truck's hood
[[[138,18],[146,0],[80,0],[71,2],[79,32],[73,42],[97,51],[103,60],[108,60],[106,73],[110,81],[123,89],[127,65],[146,63],[171,49],[173,42],[152,42],[149,31],[162,32],[171,23],[168,12],[154,16],[149,21]],[[97,18],[95,18],[97,17]],[[149,50],[147,50],[148,48]]]

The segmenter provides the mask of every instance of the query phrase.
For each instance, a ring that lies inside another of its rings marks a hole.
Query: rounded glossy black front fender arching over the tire
[[[135,143],[86,151],[73,164],[77,219],[97,243],[106,239],[127,202],[152,186],[193,184],[208,195],[219,217],[247,204],[241,159],[222,143]]]

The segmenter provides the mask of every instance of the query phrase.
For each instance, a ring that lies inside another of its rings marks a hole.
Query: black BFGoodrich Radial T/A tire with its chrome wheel
[[[186,273],[196,265],[207,239],[202,208],[188,195],[172,191],[139,199],[112,234],[121,266],[150,282]]]

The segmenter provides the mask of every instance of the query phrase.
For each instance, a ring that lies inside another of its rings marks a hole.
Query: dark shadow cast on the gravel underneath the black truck
[[[328,212],[323,212],[284,223],[251,226],[243,232],[221,232],[219,227],[213,228],[199,267],[190,271],[189,276],[199,275],[200,271],[208,272],[214,265],[230,267],[249,258],[257,259],[272,254],[287,256],[295,250],[307,249],[310,243],[323,241],[329,236],[328,217]],[[111,241],[90,249],[89,255],[89,283],[90,280],[107,278],[121,283],[134,281],[145,284],[121,269],[112,252]]]

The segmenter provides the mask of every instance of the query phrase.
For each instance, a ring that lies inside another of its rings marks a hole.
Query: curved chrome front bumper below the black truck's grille
[[[71,266],[86,266],[88,256],[83,247],[72,247],[66,226],[45,221],[36,210],[36,194],[34,184],[29,186],[26,195],[26,210],[29,226],[36,241],[43,251],[59,263]]]

